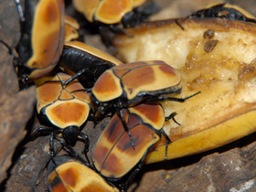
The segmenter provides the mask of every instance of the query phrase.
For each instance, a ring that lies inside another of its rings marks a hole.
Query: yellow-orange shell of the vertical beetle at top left
[[[26,66],[31,80],[48,74],[57,64],[64,43],[64,1],[40,1],[34,16],[31,44],[33,55]]]

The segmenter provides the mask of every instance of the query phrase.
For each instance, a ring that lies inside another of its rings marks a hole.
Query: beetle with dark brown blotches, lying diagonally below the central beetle
[[[163,126],[176,115],[176,112],[173,112],[165,117],[165,112],[158,103],[143,103],[122,111],[128,130],[133,135],[134,148],[129,135],[123,129],[121,118],[114,114],[101,133],[92,155],[95,168],[113,182],[120,180],[138,166],[139,168],[129,176],[129,179],[133,179],[134,174],[140,170],[145,155],[159,141],[161,134],[164,134],[167,140],[166,147],[171,143]]]

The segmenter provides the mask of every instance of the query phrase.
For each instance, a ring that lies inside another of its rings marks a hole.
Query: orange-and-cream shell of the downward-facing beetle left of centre
[[[68,80],[70,77],[65,73],[59,73],[51,79],[47,77],[36,80],[37,112],[46,115],[48,121],[59,128],[69,125],[80,127],[90,112],[90,97],[85,91],[76,91],[83,89],[78,80],[70,82],[65,88],[60,82],[45,82]]]

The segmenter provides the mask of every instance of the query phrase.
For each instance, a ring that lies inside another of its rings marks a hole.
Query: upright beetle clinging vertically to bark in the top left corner
[[[16,0],[21,13],[19,1]],[[17,47],[18,74],[37,80],[46,76],[59,61],[64,44],[64,0],[25,1],[22,36]],[[19,14],[21,16],[21,14]]]

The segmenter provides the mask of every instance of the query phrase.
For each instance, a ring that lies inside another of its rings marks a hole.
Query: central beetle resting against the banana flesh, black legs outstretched
[[[91,108],[96,120],[115,110],[129,133],[121,109],[142,102],[184,102],[199,93],[187,98],[163,96],[180,92],[180,74],[176,69],[161,60],[138,61],[102,73],[91,90]],[[133,144],[132,135],[129,135]]]

